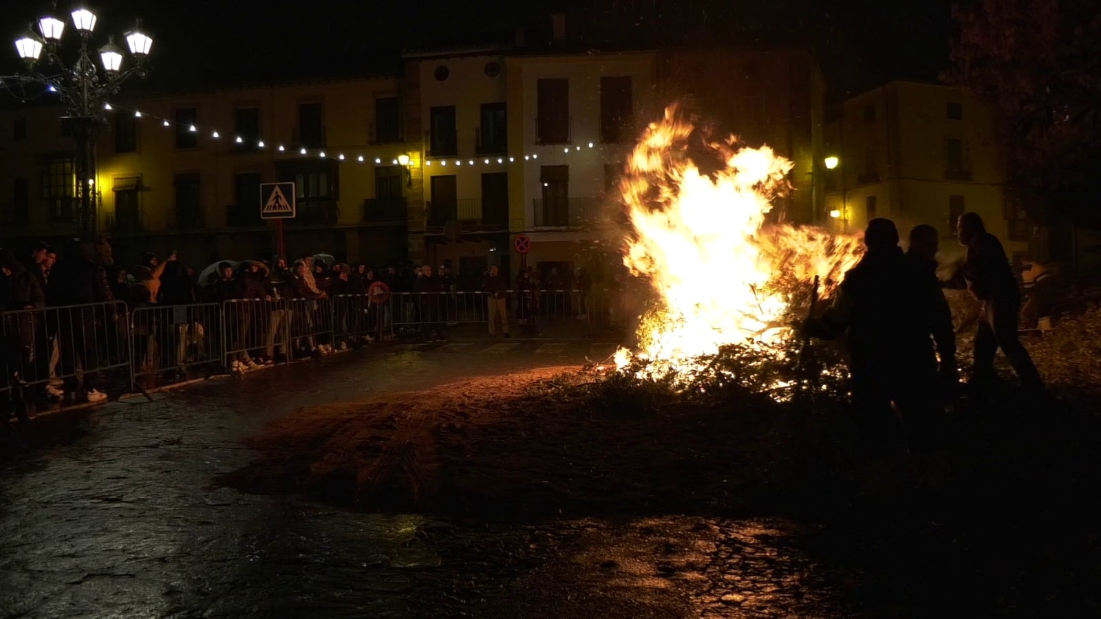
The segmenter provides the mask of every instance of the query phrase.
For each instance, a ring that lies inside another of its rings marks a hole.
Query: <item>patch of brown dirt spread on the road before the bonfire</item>
[[[780,411],[637,398],[615,409],[587,390],[595,380],[546,368],[302,409],[248,439],[260,458],[217,481],[480,518],[666,512],[752,476],[749,444],[774,432],[752,428]]]

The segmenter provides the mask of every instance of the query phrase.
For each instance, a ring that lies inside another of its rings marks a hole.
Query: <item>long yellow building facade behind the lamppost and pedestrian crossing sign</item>
[[[119,98],[97,128],[97,229],[116,256],[270,258],[262,183],[296,183],[285,253],[404,258],[407,153],[396,76]],[[0,238],[76,234],[73,140],[58,107],[0,111]]]

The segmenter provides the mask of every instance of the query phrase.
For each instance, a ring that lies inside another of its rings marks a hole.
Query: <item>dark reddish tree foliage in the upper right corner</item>
[[[1101,228],[1101,0],[953,8],[942,77],[995,106],[1011,197],[1035,220]]]

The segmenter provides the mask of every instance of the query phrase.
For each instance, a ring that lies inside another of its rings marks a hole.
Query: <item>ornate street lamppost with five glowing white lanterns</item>
[[[92,153],[96,122],[105,120],[103,110],[109,109],[108,99],[119,91],[123,82],[134,75],[145,77],[145,61],[153,46],[153,39],[142,30],[140,21],[133,30],[123,34],[132,59],[123,70],[126,51],[115,44],[113,37],[109,37],[107,44],[99,48],[102,64],[100,73],[92,61],[89,46],[91,34],[96,30],[96,13],[79,8],[73,11],[72,18],[73,28],[80,37],[76,61],[67,64],[59,55],[65,22],[53,15],[45,15],[39,20],[37,32],[31,26],[15,40],[15,51],[28,68],[28,73],[15,77],[44,85],[48,90],[58,93],[65,104],[68,117],[63,119],[73,123],[73,137],[76,140],[76,178],[80,192],[78,229],[81,238],[91,239],[96,235],[97,224],[91,199],[91,185],[96,177]]]

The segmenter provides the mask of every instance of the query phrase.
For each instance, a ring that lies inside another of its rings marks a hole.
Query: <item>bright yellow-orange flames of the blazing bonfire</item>
[[[634,234],[623,262],[650,281],[661,308],[639,327],[637,352],[617,351],[619,368],[636,358],[646,373],[686,377],[720,346],[778,341],[791,332],[781,281],[809,290],[820,275],[826,296],[863,249],[855,236],[766,222],[791,188],[792,162],[731,138],[701,144],[718,163],[704,174],[688,154],[694,130],[671,107],[628,162],[621,191]]]

